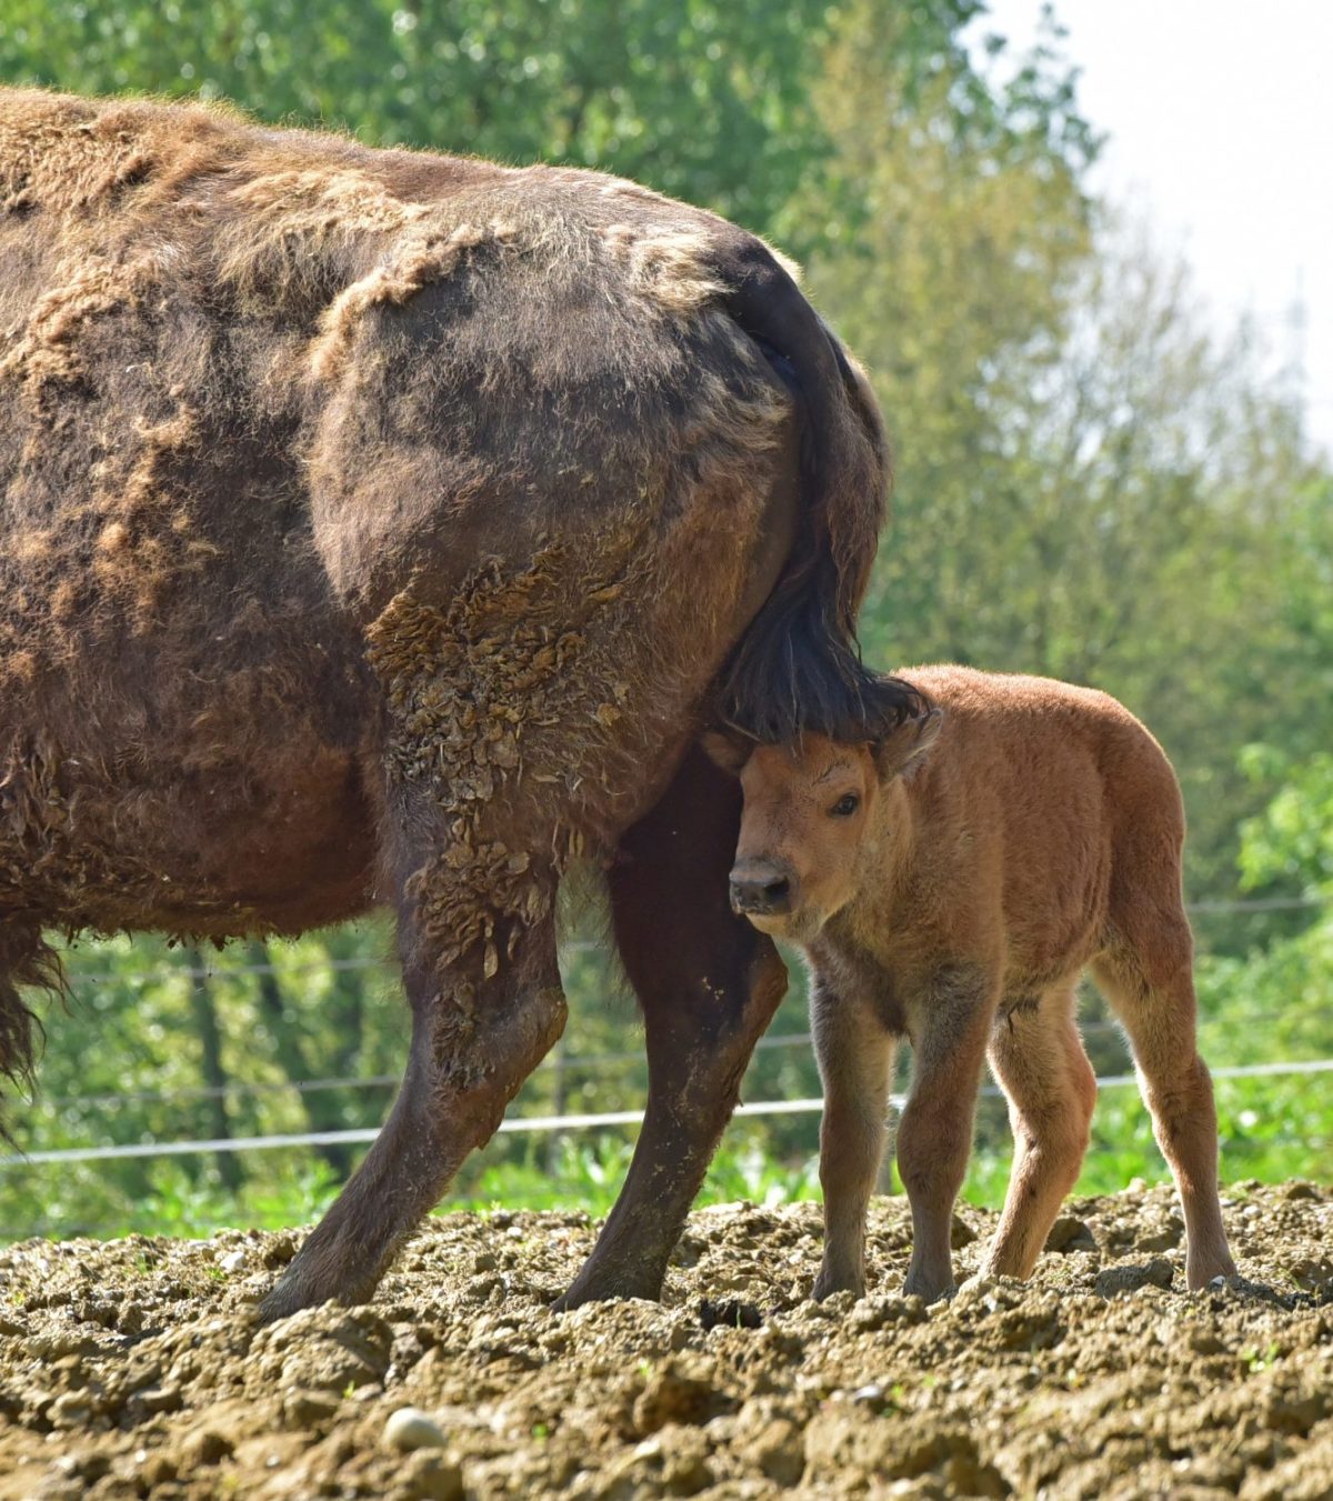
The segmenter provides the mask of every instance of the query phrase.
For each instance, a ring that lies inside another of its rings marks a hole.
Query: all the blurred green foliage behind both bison
[[[1097,138],[1054,23],[1013,56],[977,0],[0,0],[0,81],[596,167],[794,252],[896,449],[868,659],[1067,677],[1147,719],[1189,808],[1205,1055],[1333,1055],[1333,476],[1255,330],[1219,332],[1187,267],[1090,191]],[[642,1099],[633,1004],[594,938],[572,923],[572,1022],[518,1114]],[[17,1142],[375,1126],[405,1045],[390,949],[378,922],[224,953],[75,946]],[[818,1093],[793,971],[746,1099]],[[1099,1072],[1124,1072],[1091,994],[1085,1018]],[[1223,1175],[1333,1174],[1321,1076],[1217,1093]],[[449,1202],[605,1208],[629,1135],[497,1138]],[[706,1192],[815,1192],[815,1139],[814,1114],[739,1121]],[[290,1223],[359,1150],[9,1163],[0,1228]],[[973,1193],[998,1199],[1007,1150],[988,1097]],[[1163,1175],[1147,1118],[1106,1090],[1084,1187],[1136,1174]]]

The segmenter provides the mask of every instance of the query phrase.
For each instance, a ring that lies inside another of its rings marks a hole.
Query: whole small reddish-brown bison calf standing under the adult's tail
[[[1165,754],[1090,689],[959,666],[901,675],[935,707],[874,744],[709,743],[745,794],[733,905],[811,962],[824,1081],[815,1297],[865,1289],[901,1036],[916,1061],[898,1127],[905,1291],[953,1286],[950,1219],[988,1057],[1015,1160],[982,1274],[1028,1276],[1088,1144],[1097,1088],[1075,1024],[1087,968],[1129,1034],[1180,1190],[1189,1286],[1234,1273],[1195,1048],[1184,811]]]

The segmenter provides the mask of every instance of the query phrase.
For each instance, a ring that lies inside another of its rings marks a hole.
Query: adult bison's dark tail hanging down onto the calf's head
[[[908,683],[868,671],[856,639],[890,480],[875,399],[767,248],[745,239],[728,251],[728,311],[799,393],[802,513],[782,576],[719,674],[713,711],[769,744],[805,729],[877,738],[925,705]]]

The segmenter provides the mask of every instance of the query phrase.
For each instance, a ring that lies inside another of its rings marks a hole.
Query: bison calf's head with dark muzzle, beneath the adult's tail
[[[806,734],[794,744],[754,744],[710,734],[709,755],[740,778],[745,808],[731,868],[731,907],[761,932],[811,943],[875,880],[895,833],[886,791],[940,734],[928,708],[883,740],[839,744]]]

